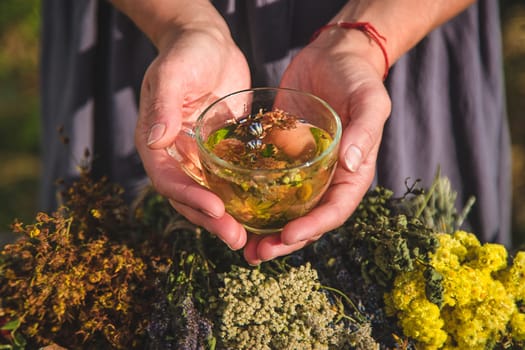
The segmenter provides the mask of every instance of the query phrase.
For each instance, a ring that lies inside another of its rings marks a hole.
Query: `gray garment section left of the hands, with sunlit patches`
[[[71,182],[89,150],[95,176],[131,199],[147,179],[135,150],[140,85],[153,45],[107,1],[42,2],[43,210],[56,207],[57,179]],[[57,132],[70,140],[64,145]]]

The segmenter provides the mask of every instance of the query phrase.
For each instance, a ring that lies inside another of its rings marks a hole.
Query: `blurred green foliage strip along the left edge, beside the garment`
[[[0,1],[0,241],[14,217],[35,215],[39,5],[38,0]]]

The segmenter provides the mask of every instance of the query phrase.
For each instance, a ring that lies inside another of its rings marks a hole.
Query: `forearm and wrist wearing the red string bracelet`
[[[378,75],[389,67],[379,45],[383,46],[389,65],[414,47],[430,31],[453,18],[475,0],[352,0],[331,20],[368,22],[384,38],[380,43],[358,30],[337,26],[323,30],[313,46],[332,53],[349,53],[367,57]]]

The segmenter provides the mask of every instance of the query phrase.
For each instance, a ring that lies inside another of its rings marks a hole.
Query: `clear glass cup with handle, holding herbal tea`
[[[316,206],[340,139],[339,116],[320,98],[254,88],[211,103],[168,153],[248,231],[267,234]]]

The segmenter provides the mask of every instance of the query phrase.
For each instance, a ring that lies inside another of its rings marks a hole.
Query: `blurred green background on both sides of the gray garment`
[[[517,246],[525,244],[525,1],[500,3]],[[33,222],[37,211],[39,6],[39,0],[0,0],[0,232],[14,218]]]

